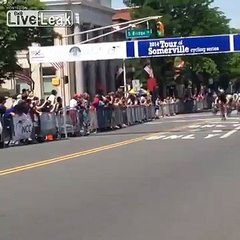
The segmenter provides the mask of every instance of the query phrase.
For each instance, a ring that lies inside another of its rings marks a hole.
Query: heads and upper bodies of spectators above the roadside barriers
[[[204,92],[200,92],[195,95],[186,94],[184,102],[187,101],[202,101],[206,97]],[[128,94],[125,96],[123,91],[111,92],[107,95],[97,94],[92,100],[89,94],[75,94],[67,104],[69,110],[89,109],[94,110],[98,107],[114,107],[114,106],[136,106],[136,105],[155,105],[156,110],[161,106],[176,103],[179,101],[174,96],[167,97],[161,100],[159,97],[152,99],[152,96],[148,93],[141,95]],[[63,109],[62,98],[58,96],[57,91],[52,90],[50,96],[46,99],[39,99],[35,97],[29,90],[23,89],[22,93],[12,98],[12,104],[9,108],[5,106],[6,98],[0,97],[0,116],[14,115],[22,113],[30,113],[30,115],[41,114],[42,112],[55,112],[61,113]]]

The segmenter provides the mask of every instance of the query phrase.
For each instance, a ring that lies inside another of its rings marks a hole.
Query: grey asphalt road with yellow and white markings
[[[239,139],[201,114],[1,150],[0,239],[239,240]]]

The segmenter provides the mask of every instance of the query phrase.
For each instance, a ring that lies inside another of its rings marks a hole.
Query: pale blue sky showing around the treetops
[[[125,7],[122,2],[122,0],[112,0],[112,7]],[[240,28],[240,0],[215,0],[213,6],[219,7],[226,17],[231,19],[231,27]]]

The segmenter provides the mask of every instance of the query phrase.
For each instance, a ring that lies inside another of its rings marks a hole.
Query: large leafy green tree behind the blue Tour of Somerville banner
[[[131,0],[131,4],[139,6],[132,11],[133,18],[150,15],[162,16],[165,25],[165,37],[216,35],[230,33],[229,20],[218,8],[212,8],[213,0]],[[156,30],[156,23],[151,22]],[[157,36],[153,34],[153,38]],[[214,55],[205,57],[187,57],[192,71],[216,75],[226,72],[224,62],[228,56]],[[155,75],[158,77],[160,89],[169,81],[169,66],[173,66],[174,58],[154,58],[151,60]],[[173,68],[172,68],[173,70]]]

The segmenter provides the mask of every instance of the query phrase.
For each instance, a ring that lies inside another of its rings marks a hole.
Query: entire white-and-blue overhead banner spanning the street
[[[159,38],[122,42],[29,47],[32,64],[192,56],[240,52],[240,35]]]

